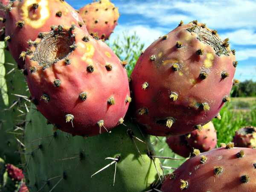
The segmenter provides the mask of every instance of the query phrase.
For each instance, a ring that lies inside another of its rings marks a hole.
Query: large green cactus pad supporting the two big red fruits
[[[53,191],[67,192],[143,192],[157,178],[154,163],[147,155],[147,148],[152,149],[148,135],[142,136],[137,125],[126,121],[126,126],[119,125],[111,133],[95,137],[72,137],[70,134],[57,130],[53,125],[47,125],[47,120],[41,113],[30,110],[26,125],[26,177],[31,192]],[[134,136],[145,143],[134,141],[127,134],[131,129]],[[153,150],[153,149],[152,149]],[[116,177],[113,186],[115,164],[93,175],[113,160],[120,159],[116,164]],[[160,161],[155,159],[157,170]],[[53,178],[55,177],[55,178]],[[61,181],[60,181],[61,180]]]

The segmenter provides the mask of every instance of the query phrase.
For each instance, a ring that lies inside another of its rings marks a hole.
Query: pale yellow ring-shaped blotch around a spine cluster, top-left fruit
[[[29,16],[29,12],[33,3],[38,3],[40,9],[38,9],[38,14]],[[50,16],[48,0],[26,0],[23,3],[21,9],[22,20],[25,21],[26,25],[30,25],[32,28],[38,29],[45,25],[45,22]],[[38,17],[38,19],[36,19]]]

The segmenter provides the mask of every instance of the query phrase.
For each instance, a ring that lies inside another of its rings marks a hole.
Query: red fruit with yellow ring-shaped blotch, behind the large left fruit
[[[64,0],[15,1],[5,18],[6,36],[10,36],[8,47],[21,69],[24,61],[20,54],[22,51],[26,52],[29,48],[27,42],[35,41],[39,32],[49,31],[50,26],[71,24],[80,24],[87,32],[80,15]],[[23,24],[18,25],[19,22]]]

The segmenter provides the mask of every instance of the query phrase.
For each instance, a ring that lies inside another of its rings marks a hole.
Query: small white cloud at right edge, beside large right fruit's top
[[[240,29],[234,32],[221,34],[221,37],[230,38],[231,43],[236,45],[256,45],[256,33],[251,29]]]

